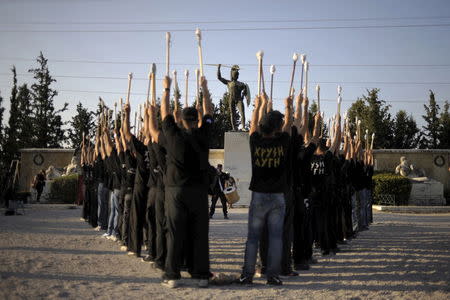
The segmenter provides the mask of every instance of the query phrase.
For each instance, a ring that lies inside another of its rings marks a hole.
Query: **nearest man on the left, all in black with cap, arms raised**
[[[182,252],[189,253],[188,271],[198,279],[199,287],[207,287],[209,272],[208,245],[208,155],[211,132],[212,103],[206,79],[201,78],[203,119],[199,111],[186,107],[180,126],[170,111],[170,78],[163,80],[161,100],[162,134],[167,151],[165,210],[167,217],[167,258],[162,284],[175,288],[179,284]],[[150,131],[156,143],[160,140],[156,107],[150,107]],[[187,234],[190,236],[187,237]],[[188,240],[188,245],[183,242]],[[187,249],[186,249],[187,248]]]

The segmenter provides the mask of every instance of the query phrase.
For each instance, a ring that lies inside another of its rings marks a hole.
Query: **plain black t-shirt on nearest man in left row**
[[[203,117],[202,126],[187,132],[172,115],[162,123],[167,151],[167,186],[208,186],[209,138],[213,119]]]

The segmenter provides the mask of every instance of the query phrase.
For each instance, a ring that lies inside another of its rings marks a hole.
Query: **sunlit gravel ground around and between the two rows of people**
[[[450,214],[375,213],[365,231],[336,256],[282,287],[257,279],[235,285],[168,290],[160,273],[128,257],[79,220],[79,209],[34,205],[0,216],[0,299],[449,299]],[[237,275],[243,262],[246,209],[211,222],[214,273]],[[318,255],[316,253],[316,255]],[[184,274],[187,275],[187,274]]]

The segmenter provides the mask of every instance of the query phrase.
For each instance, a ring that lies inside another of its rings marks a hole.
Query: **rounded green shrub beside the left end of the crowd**
[[[73,204],[78,195],[78,175],[72,174],[56,178],[50,188],[50,199],[54,203]]]

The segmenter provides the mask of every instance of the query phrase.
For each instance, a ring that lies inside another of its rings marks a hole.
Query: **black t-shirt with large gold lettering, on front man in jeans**
[[[264,138],[250,136],[252,179],[249,189],[260,193],[284,193],[288,189],[288,154],[291,138],[286,132]]]

